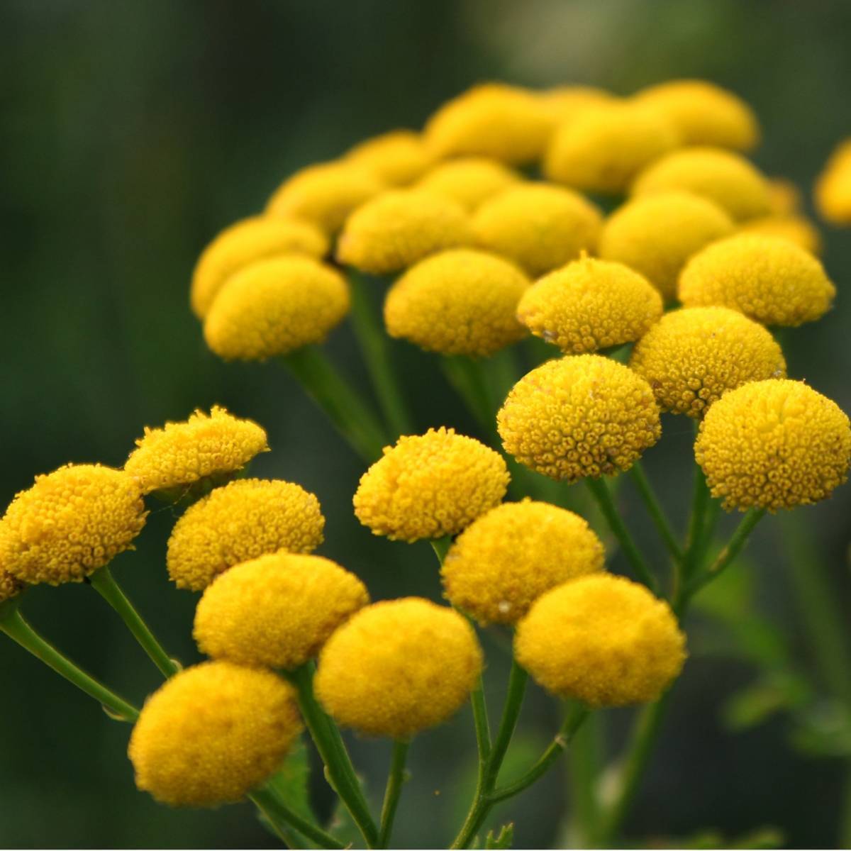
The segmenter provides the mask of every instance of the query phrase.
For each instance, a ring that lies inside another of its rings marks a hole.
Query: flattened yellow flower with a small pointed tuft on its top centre
[[[583,257],[550,272],[523,294],[517,317],[568,354],[629,343],[662,315],[662,298],[620,263]]]

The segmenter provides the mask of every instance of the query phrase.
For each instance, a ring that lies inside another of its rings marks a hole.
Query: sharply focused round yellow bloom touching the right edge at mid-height
[[[727,511],[794,508],[826,500],[848,477],[851,426],[802,381],[754,381],[707,411],[694,457]]]

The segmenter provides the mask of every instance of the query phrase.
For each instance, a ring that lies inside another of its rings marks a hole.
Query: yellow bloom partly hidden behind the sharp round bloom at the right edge
[[[660,407],[700,417],[722,393],[747,381],[785,378],[771,334],[727,307],[665,314],[632,351],[630,366],[648,380]]]

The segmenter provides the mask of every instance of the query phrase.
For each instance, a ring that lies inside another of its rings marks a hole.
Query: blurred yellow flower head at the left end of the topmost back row
[[[553,117],[528,89],[484,83],[449,100],[426,124],[437,157],[493,157],[522,165],[540,158]]]

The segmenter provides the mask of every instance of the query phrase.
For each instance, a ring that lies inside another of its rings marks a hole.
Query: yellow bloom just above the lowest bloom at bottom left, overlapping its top
[[[193,635],[214,659],[292,670],[367,603],[363,582],[339,564],[278,552],[237,564],[209,585]]]

